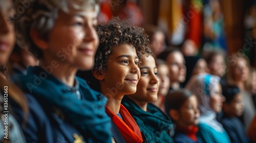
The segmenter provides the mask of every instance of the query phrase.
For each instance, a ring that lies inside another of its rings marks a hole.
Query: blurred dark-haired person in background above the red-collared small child
[[[186,77],[186,66],[180,50],[176,48],[166,49],[158,55],[158,58],[164,60],[169,68],[169,91],[182,88],[181,83],[185,81]]]

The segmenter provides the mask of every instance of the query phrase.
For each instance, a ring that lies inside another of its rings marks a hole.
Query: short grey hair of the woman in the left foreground
[[[27,48],[36,58],[42,57],[42,51],[35,45],[30,30],[38,32],[40,38],[48,40],[48,34],[54,27],[59,10],[93,9],[99,12],[100,0],[27,0],[16,1],[16,18],[14,20],[17,43]]]

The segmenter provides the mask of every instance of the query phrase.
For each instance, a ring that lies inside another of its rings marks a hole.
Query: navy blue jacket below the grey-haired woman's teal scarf
[[[24,123],[22,109],[14,102],[12,102],[12,107],[17,121],[22,125],[27,142],[74,142],[76,139],[74,135],[81,136],[77,128],[71,126],[68,121],[61,120],[57,112],[51,111],[52,107],[44,109],[33,95],[26,94],[26,97],[30,110],[26,123]]]

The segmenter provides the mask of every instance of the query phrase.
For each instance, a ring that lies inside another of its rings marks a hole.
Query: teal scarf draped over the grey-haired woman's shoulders
[[[67,85],[49,75],[41,67],[29,67],[27,76],[19,76],[14,82],[35,98],[47,101],[45,105],[54,105],[71,119],[73,126],[81,129],[87,142],[112,142],[111,122],[105,113],[106,98],[92,90],[88,84],[76,77],[79,82],[82,100],[67,89]],[[40,101],[39,101],[40,102]]]

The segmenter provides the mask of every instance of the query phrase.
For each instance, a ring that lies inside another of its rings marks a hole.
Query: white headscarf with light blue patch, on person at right
[[[223,131],[223,126],[216,120],[217,113],[209,105],[210,96],[215,92],[220,78],[209,74],[199,74],[193,76],[186,84],[186,89],[191,91],[198,100],[198,108],[201,112],[199,123],[204,123],[219,132]]]

